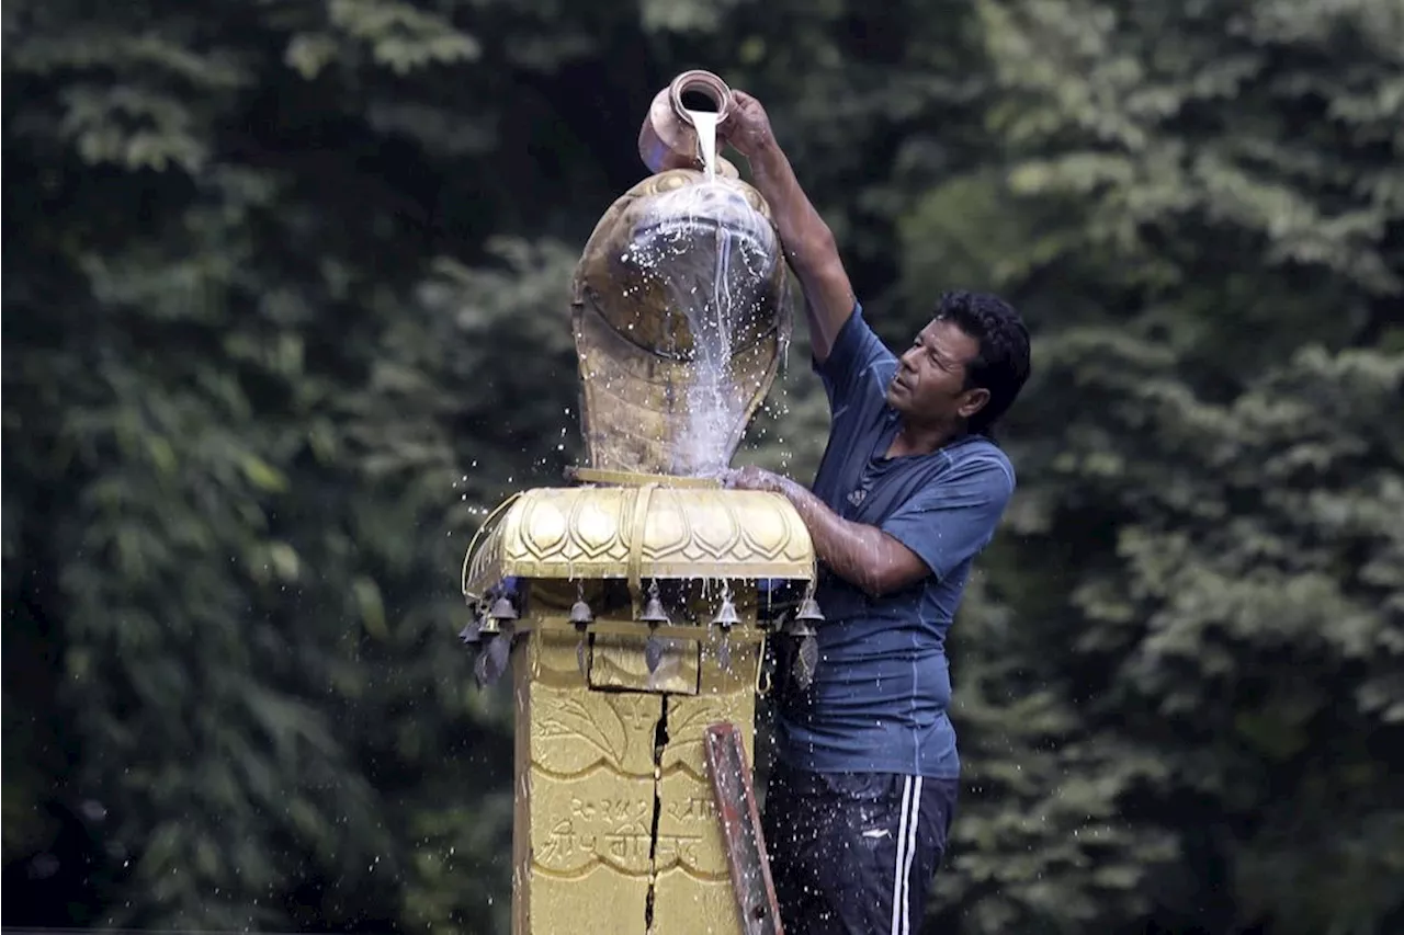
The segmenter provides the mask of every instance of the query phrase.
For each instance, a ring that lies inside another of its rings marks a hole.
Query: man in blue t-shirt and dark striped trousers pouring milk
[[[727,473],[788,497],[821,562],[819,668],[776,701],[764,830],[782,922],[790,935],[908,935],[959,788],[945,635],[1014,491],[990,430],[1028,379],[1028,331],[994,296],[949,293],[894,357],[761,104],[737,91],[722,133],[774,211],[833,416],[813,491]]]

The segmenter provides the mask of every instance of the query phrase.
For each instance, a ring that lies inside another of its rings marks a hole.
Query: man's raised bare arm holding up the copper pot
[[[733,149],[746,156],[755,190],[771,205],[785,256],[804,292],[814,359],[823,364],[855,306],[854,286],[838,257],[834,233],[795,178],[795,170],[775,142],[771,119],[760,101],[746,91],[733,91],[731,110],[720,132]]]

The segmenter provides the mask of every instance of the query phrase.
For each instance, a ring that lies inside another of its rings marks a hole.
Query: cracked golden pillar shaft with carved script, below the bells
[[[591,689],[569,632],[515,650],[514,935],[740,935],[702,740],[753,747],[760,639],[733,630],[730,671],[694,643],[692,695]]]

